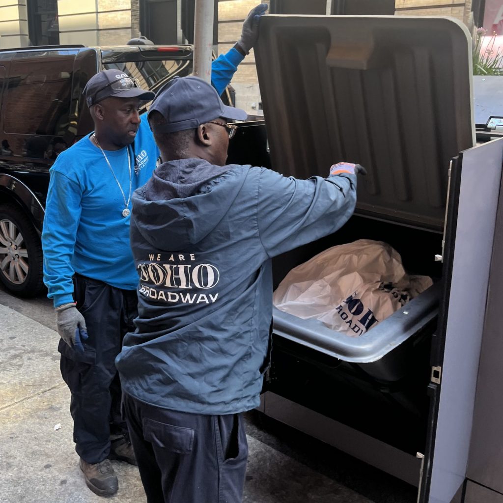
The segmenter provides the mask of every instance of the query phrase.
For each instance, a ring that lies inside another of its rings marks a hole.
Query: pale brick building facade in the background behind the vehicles
[[[211,0],[209,0],[211,1]],[[214,0],[214,47],[227,51],[261,0]],[[264,0],[262,0],[264,2]],[[276,14],[453,16],[471,27],[485,0],[267,0]],[[195,0],[0,0],[0,48],[30,45],[124,45],[140,34],[157,44],[193,42]],[[261,115],[255,54],[232,79],[236,106]]]

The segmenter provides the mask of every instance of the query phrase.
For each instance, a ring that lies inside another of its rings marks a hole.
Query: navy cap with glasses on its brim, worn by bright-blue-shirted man
[[[88,107],[115,96],[116,98],[139,98],[150,101],[155,97],[152,91],[145,91],[127,73],[120,70],[103,70],[93,75],[83,90]]]

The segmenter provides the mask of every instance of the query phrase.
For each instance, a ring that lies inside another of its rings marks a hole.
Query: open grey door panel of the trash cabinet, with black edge
[[[441,306],[440,361],[434,362],[441,368],[434,393],[438,413],[431,425],[424,502],[450,503],[465,480],[502,161],[499,139],[462,152],[457,166],[459,194],[451,201],[458,203],[449,207],[457,213],[455,241],[446,242],[452,265],[446,265],[451,275]]]

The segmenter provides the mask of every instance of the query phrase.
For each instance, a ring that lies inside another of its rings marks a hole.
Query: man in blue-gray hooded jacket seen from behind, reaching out
[[[196,77],[175,78],[148,120],[163,163],[133,195],[136,331],[116,366],[149,503],[238,503],[241,412],[259,404],[272,320],[271,258],[339,229],[355,164],[285,178],[226,165],[246,114]]]

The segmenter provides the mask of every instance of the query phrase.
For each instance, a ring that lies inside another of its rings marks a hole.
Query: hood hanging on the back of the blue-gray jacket
[[[194,245],[228,212],[249,167],[216,166],[204,159],[164,162],[134,192],[132,224],[156,249]]]

